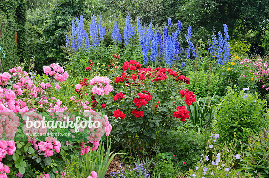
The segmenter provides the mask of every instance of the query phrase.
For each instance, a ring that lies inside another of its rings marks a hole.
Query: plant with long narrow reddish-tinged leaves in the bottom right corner
[[[248,137],[248,143],[244,152],[243,159],[240,165],[242,168],[240,170],[245,170],[250,174],[261,177],[269,176],[269,162],[268,162],[268,152],[269,152],[269,137],[268,130],[262,129],[259,136],[251,135]]]

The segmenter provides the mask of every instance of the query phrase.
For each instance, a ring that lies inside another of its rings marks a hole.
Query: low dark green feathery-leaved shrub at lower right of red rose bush
[[[174,153],[176,159],[173,159],[173,162],[181,172],[188,171],[200,159],[207,140],[206,133],[199,135],[194,130],[187,132],[178,130],[174,134],[171,133],[167,139],[161,140],[163,147],[160,151]]]

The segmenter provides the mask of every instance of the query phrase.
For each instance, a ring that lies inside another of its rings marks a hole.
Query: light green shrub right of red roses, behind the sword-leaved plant
[[[196,97],[207,97],[208,95],[208,76],[209,72],[197,71],[197,89],[196,89]],[[191,83],[188,85],[189,91],[195,90],[195,72],[191,72],[187,78],[190,79]],[[210,95],[213,96],[216,92],[216,95],[222,95],[223,88],[220,85],[222,83],[222,79],[211,73],[211,83],[210,83]]]

